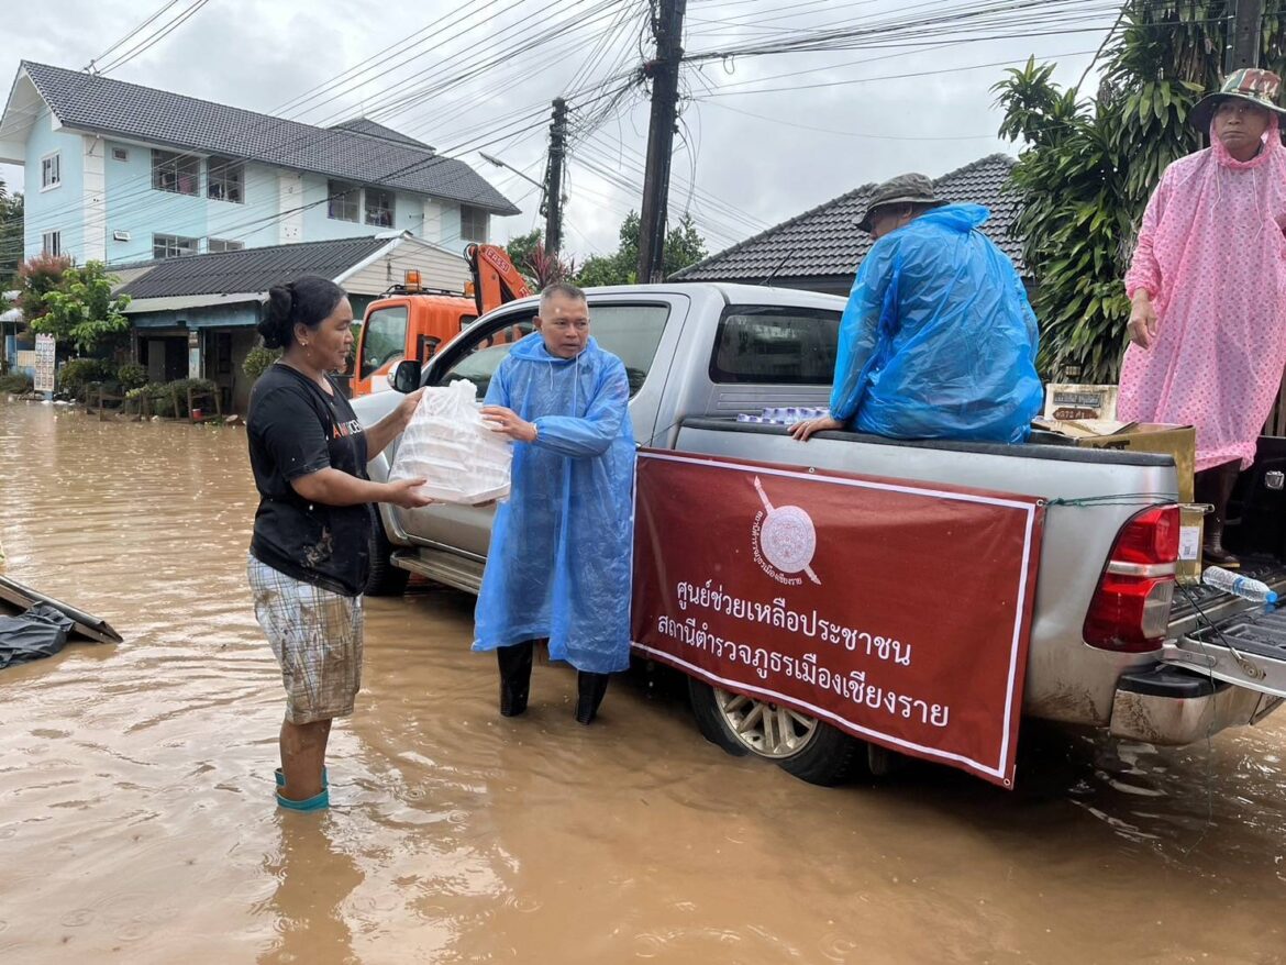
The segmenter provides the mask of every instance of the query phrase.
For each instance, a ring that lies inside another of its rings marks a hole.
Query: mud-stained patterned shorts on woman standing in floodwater
[[[302,724],[352,713],[361,690],[361,597],[287,576],[249,557],[255,616],[285,685],[285,719]]]

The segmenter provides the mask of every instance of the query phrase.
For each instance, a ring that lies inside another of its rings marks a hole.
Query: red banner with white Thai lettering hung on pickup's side
[[[1040,501],[653,450],[637,501],[638,651],[1013,786]]]

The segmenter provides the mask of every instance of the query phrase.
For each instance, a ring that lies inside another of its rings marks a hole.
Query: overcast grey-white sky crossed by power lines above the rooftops
[[[1015,0],[688,0],[684,48],[737,51],[802,31],[963,17],[1007,3]],[[1078,9],[1047,0],[1057,18],[1016,13],[975,36],[934,26],[864,49],[687,64],[671,219],[691,211],[714,252],[867,181],[907,170],[939,176],[993,152],[1016,153],[995,136],[989,87],[1004,71],[995,64],[1035,54],[1075,84],[1114,19],[1110,3]],[[167,36],[134,50],[189,10]],[[460,157],[514,201],[522,214],[494,221],[496,241],[543,224],[539,194],[478,148],[540,180],[550,100],[570,95],[565,248],[577,259],[615,250],[622,216],[639,207],[648,104],[646,89],[626,78],[640,51],[652,51],[646,0],[45,0],[8,5],[4,28],[8,81],[24,58],[77,69],[98,58],[118,80],[311,124],[370,116]],[[997,32],[1029,36],[981,39]],[[22,169],[0,165],[0,176],[22,188]]]

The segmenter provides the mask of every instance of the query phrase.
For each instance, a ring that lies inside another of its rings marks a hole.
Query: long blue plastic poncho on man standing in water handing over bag
[[[634,430],[625,365],[590,338],[575,359],[520,341],[487,389],[535,422],[513,450],[478,593],[475,650],[549,638],[549,656],[586,673],[630,661]]]

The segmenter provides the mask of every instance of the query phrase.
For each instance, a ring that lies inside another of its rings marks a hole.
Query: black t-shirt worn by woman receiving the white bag
[[[291,485],[327,467],[368,477],[367,434],[333,381],[331,387],[333,395],[276,364],[251,391],[246,425],[260,501],[249,551],[287,576],[355,597],[370,567],[370,506],[310,503]]]

